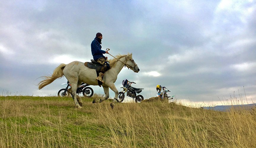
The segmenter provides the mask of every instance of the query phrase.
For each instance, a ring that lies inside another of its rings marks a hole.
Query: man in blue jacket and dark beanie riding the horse
[[[102,34],[101,33],[97,33],[96,37],[92,41],[91,50],[92,50],[93,60],[95,60],[96,62],[98,62],[101,65],[103,65],[103,67],[100,69],[100,74],[99,74],[99,76],[96,79],[101,81],[102,83],[105,83],[102,80],[102,78],[103,78],[104,73],[107,70],[109,70],[110,66],[109,66],[109,63],[107,62],[108,57],[105,57],[103,55],[103,54],[107,54],[108,51],[101,50],[101,45],[100,45],[101,44],[101,40],[102,40]]]

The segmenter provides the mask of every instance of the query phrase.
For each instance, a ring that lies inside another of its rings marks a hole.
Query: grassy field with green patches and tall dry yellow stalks
[[[0,147],[256,147],[256,109],[0,96]]]

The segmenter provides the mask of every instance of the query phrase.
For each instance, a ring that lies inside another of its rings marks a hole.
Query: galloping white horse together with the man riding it
[[[41,78],[43,78],[43,80],[39,82],[38,88],[42,89],[44,86],[52,83],[57,78],[65,76],[72,85],[71,95],[74,100],[75,106],[77,108],[81,108],[83,103],[81,97],[76,95],[77,87],[80,86],[82,82],[94,86],[99,85],[99,79],[102,82],[102,76],[105,75],[103,78],[105,82],[102,84],[105,96],[103,96],[102,98],[95,98],[92,103],[100,103],[108,99],[110,88],[115,93],[114,99],[110,104],[111,108],[113,108],[114,104],[119,102],[117,99],[118,90],[116,89],[116,86],[114,84],[116,82],[117,75],[120,73],[124,66],[133,70],[135,73],[138,73],[140,69],[133,60],[132,54],[129,53],[124,55],[119,54],[116,57],[113,56],[114,59],[110,59],[110,64],[108,64],[108,62],[106,61],[107,57],[103,56],[103,54],[108,52],[101,50],[101,39],[102,34],[97,33],[96,38],[92,41],[91,44],[93,59],[97,62],[100,61],[103,65],[103,68],[101,69],[102,74],[99,75],[100,77],[97,77],[97,71],[95,69],[85,66],[84,62],[73,61],[69,64],[60,64],[58,67],[55,68],[52,75],[42,76]]]

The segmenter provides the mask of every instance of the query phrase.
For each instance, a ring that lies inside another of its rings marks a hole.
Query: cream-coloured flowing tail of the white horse
[[[62,63],[58,67],[55,68],[52,75],[40,77],[40,78],[43,78],[44,80],[39,82],[38,89],[42,89],[44,86],[47,86],[48,84],[52,83],[54,80],[64,77],[63,69],[65,68],[65,66],[66,66],[66,64]]]

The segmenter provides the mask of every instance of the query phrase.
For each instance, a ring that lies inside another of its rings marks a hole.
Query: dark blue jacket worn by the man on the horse
[[[92,41],[92,44],[91,44],[93,60],[95,60],[96,62],[101,57],[105,58],[105,56],[103,54],[106,53],[104,50],[101,50],[101,45],[98,40],[99,39],[97,37],[94,38],[94,40]]]

